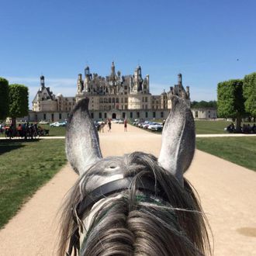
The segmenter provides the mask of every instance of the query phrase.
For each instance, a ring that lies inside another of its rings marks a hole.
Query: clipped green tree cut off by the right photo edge
[[[245,111],[256,117],[256,73],[244,77],[244,99]]]

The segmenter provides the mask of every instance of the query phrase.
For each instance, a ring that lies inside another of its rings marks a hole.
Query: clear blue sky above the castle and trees
[[[106,76],[138,64],[159,94],[182,73],[192,100],[216,99],[219,81],[256,71],[254,0],[0,0],[0,77],[29,87],[40,75],[74,96],[86,65]]]

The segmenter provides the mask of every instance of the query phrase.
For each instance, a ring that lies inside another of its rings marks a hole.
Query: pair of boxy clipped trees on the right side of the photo
[[[244,79],[222,81],[217,87],[219,117],[236,119],[236,129],[244,117],[256,117],[256,72]]]

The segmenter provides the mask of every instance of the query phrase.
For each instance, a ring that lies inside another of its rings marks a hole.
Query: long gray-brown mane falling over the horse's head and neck
[[[102,159],[107,161],[108,158]],[[80,255],[205,255],[210,253],[206,216],[192,185],[184,188],[157,163],[151,154],[134,152],[124,156],[124,177],[133,177],[130,189],[102,199],[81,244]],[[76,223],[71,207],[88,195],[85,184],[94,167],[74,184],[61,216],[59,254],[64,255]],[[151,178],[163,197],[137,189],[137,181]],[[119,195],[119,196],[116,196]],[[109,199],[111,198],[111,199]],[[85,213],[84,218],[88,216]],[[82,220],[81,220],[82,222]]]

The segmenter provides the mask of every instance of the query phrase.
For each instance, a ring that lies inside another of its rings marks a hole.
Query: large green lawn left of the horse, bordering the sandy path
[[[66,162],[64,140],[0,140],[0,227]]]

